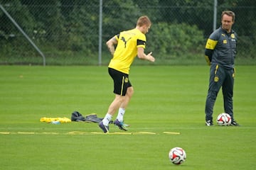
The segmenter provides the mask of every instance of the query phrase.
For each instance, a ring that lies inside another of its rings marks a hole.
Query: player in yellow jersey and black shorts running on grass
[[[118,111],[117,119],[114,120],[114,125],[117,125],[120,130],[127,130],[127,125],[124,124],[124,112],[132,98],[134,89],[129,81],[129,69],[135,57],[142,60],[154,62],[155,58],[149,52],[144,53],[146,46],[146,33],[151,27],[151,21],[147,16],[139,17],[136,28],[132,30],[124,30],[121,33],[114,35],[113,38],[107,41],[107,47],[113,55],[108,66],[110,77],[114,81],[114,101],[110,104],[105,118],[99,123],[99,127],[103,132],[109,132],[109,123],[112,120],[114,113]],[[116,47],[115,47],[116,46]]]

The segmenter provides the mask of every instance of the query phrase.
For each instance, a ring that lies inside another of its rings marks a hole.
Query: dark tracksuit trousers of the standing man
[[[213,120],[213,106],[218,91],[222,86],[224,111],[228,113],[233,121],[233,86],[235,69],[225,69],[218,64],[211,64],[208,95],[206,98],[206,121]]]

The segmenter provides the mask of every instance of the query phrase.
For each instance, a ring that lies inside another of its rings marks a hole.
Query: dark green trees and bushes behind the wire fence
[[[103,42],[120,30],[134,28],[137,18],[147,15],[153,23],[147,47],[163,60],[202,57],[206,38],[213,31],[214,1],[103,0],[102,3]],[[74,57],[81,53],[97,56],[99,0],[0,0],[0,4],[48,52],[46,57]],[[221,11],[227,9],[236,14],[233,28],[239,35],[239,57],[254,58],[256,1],[219,0],[218,26]],[[2,11],[0,21],[0,60],[10,55],[36,54]],[[105,45],[102,50],[107,52]]]

